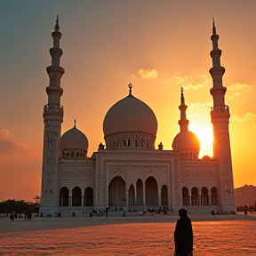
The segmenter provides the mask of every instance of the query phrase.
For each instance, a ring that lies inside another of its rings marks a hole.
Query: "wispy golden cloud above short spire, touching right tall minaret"
[[[199,89],[204,87],[204,85],[210,82],[209,76],[205,75],[194,75],[194,76],[172,76],[172,78],[168,79],[164,82],[164,84],[178,84],[183,85],[185,90],[189,88]]]

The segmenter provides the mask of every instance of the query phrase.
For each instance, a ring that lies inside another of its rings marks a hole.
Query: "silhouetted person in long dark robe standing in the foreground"
[[[193,230],[186,209],[180,209],[180,219],[177,220],[174,231],[175,256],[193,255]]]

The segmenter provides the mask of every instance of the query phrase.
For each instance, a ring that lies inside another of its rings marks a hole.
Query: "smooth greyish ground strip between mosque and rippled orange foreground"
[[[256,214],[248,213],[236,215],[191,215],[191,221],[221,221],[221,220],[254,220]],[[125,223],[175,223],[179,219],[176,214],[145,215],[125,217],[34,217],[32,220],[0,218],[0,234],[12,232],[27,232],[52,230],[60,228],[83,228],[90,226],[115,225]]]

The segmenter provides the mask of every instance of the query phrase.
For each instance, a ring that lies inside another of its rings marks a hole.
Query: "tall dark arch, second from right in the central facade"
[[[156,179],[149,176],[145,182],[145,192],[146,192],[146,205],[147,206],[158,206],[158,188]]]

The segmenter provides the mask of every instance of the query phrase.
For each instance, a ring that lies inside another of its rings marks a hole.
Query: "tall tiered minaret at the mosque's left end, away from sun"
[[[60,97],[63,89],[60,88],[60,78],[65,70],[60,67],[59,16],[52,32],[53,47],[50,49],[52,65],[46,68],[49,76],[49,86],[46,87],[48,104],[44,106],[44,152],[42,171],[42,191],[39,214],[56,214],[59,205],[59,159],[60,159],[60,132],[63,122],[63,107],[60,105]]]

